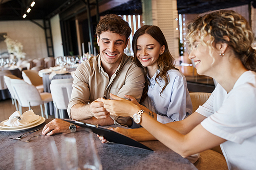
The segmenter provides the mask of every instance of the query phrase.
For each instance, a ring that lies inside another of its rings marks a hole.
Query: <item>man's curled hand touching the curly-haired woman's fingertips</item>
[[[93,101],[90,104],[90,110],[93,116],[96,117],[97,119],[103,119],[110,116],[110,113],[106,111],[106,109],[103,106],[104,104],[102,103],[101,98]]]

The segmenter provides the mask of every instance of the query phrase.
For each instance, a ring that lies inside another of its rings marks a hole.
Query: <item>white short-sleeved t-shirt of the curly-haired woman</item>
[[[221,144],[229,169],[256,169],[256,73],[246,71],[227,93],[218,84],[196,112],[201,125],[227,141]]]

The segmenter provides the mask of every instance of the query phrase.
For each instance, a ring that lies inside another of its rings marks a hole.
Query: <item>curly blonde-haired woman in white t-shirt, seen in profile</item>
[[[255,169],[256,53],[251,47],[253,37],[248,22],[234,11],[221,10],[199,16],[188,26],[189,58],[194,59],[199,74],[219,83],[210,98],[184,120],[163,125],[140,111],[140,125],[144,129],[116,128],[115,131],[136,140],[158,139],[182,157],[220,144],[229,169]],[[101,100],[112,115],[133,117],[142,109],[111,96],[114,100]],[[105,142],[103,137],[100,139]]]

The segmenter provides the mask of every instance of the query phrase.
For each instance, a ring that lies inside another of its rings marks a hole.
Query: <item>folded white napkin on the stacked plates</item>
[[[39,115],[36,115],[33,110],[28,110],[23,115],[20,115],[19,111],[15,111],[9,117],[9,120],[4,125],[9,127],[18,127],[22,125],[28,125],[31,122],[37,120]]]

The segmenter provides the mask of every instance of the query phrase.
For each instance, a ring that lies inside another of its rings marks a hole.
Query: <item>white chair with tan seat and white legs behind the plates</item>
[[[39,106],[41,115],[44,117],[42,104],[45,105],[45,114],[48,118],[47,103],[52,102],[52,95],[48,92],[39,93],[35,86],[26,83],[23,80],[11,79],[11,86],[19,103],[19,112],[22,114],[22,107]]]

